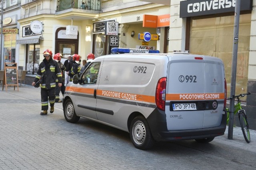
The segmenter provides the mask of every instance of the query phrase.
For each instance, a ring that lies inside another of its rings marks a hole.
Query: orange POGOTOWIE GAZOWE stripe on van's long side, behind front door
[[[143,102],[155,103],[154,96],[124,93],[124,92],[114,92],[114,91],[109,91],[109,90],[97,90],[97,96],[119,98],[119,99],[124,99],[124,100],[134,100],[134,101],[139,101],[139,102],[143,101]]]

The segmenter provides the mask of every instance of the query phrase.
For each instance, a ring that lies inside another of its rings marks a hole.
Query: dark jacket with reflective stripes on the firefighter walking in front
[[[56,87],[56,78],[58,78],[58,83],[62,83],[62,75],[60,67],[57,61],[50,59],[47,63],[46,59],[43,59],[42,63],[39,64],[38,72],[34,82],[37,82],[42,75],[43,76],[41,88],[52,89]]]

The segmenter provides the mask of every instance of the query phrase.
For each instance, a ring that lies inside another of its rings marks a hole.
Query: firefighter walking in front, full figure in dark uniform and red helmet
[[[38,72],[32,86],[42,79],[41,83],[41,105],[43,112],[40,115],[47,115],[48,100],[50,102],[50,113],[54,112],[56,78],[58,86],[62,86],[62,75],[58,63],[52,59],[52,51],[46,49],[43,53],[44,59],[39,64]],[[48,99],[49,98],[49,99]]]

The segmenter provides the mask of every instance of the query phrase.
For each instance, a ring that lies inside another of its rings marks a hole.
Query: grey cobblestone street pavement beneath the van
[[[2,88],[2,86],[0,86]],[[81,118],[68,123],[62,103],[40,115],[40,88],[0,90],[0,170],[191,170],[256,169],[256,131],[246,143],[239,127],[228,127],[208,144],[158,142],[138,150],[129,134]]]

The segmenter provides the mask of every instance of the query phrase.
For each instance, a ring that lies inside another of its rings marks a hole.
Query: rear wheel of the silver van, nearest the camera
[[[150,149],[155,140],[153,139],[148,122],[143,116],[137,116],[130,125],[130,139],[138,149]]]

